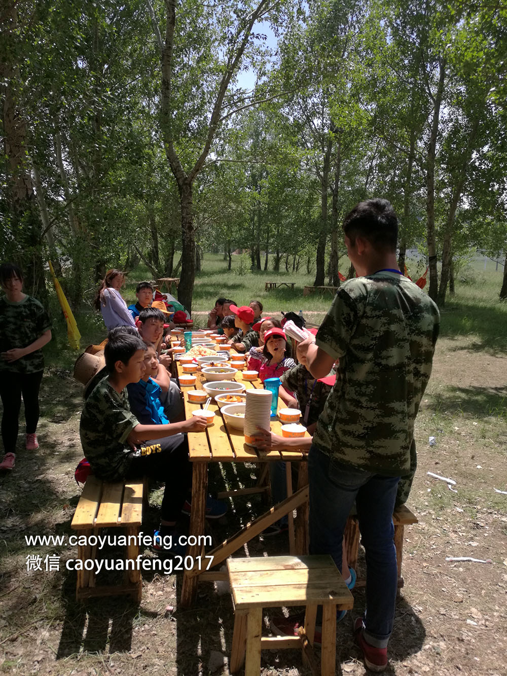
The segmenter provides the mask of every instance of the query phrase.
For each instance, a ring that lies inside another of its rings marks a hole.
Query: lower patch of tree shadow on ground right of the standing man
[[[447,387],[433,395],[425,409],[461,412],[467,416],[507,416],[507,385],[504,387]]]

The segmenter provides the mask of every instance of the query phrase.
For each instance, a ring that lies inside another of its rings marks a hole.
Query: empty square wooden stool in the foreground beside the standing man
[[[299,647],[304,662],[317,674],[312,645],[317,606],[322,605],[320,674],[334,676],[336,610],[349,610],[354,600],[331,556],[228,558],[227,569],[235,608],[231,673],[246,662],[245,676],[259,676],[262,649]],[[262,608],[276,606],[306,606],[299,636],[261,637]]]

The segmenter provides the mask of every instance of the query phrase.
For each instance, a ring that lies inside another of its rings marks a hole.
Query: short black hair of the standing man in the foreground
[[[342,228],[352,245],[356,237],[364,237],[375,249],[396,251],[398,219],[387,199],[376,197],[356,204],[345,216]]]

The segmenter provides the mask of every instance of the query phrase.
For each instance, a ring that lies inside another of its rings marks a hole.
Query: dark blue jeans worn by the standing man
[[[310,448],[310,554],[330,554],[341,571],[343,532],[356,500],[366,550],[364,635],[377,648],[387,646],[393,630],[397,567],[392,516],[399,480],[341,464],[315,444]]]

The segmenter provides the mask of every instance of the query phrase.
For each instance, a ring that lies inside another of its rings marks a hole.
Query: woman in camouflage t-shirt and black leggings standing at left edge
[[[44,369],[42,347],[51,340],[51,322],[39,301],[23,293],[17,265],[0,266],[0,397],[3,404],[0,470],[14,468],[21,397],[26,421],[26,450],[37,450],[39,388]]]

